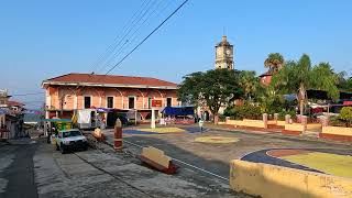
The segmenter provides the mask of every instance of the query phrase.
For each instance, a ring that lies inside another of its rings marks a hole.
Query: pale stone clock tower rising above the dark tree
[[[233,45],[227,41],[226,35],[216,45],[216,68],[233,69]]]

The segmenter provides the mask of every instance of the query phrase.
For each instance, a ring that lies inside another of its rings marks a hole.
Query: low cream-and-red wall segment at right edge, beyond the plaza
[[[321,133],[319,133],[319,138],[351,142],[352,128],[323,127]]]

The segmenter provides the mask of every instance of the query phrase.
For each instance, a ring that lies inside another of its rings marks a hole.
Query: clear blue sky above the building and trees
[[[47,78],[105,74],[182,2],[2,0],[0,89],[41,92]],[[189,0],[111,74],[180,82],[189,73],[215,67],[215,45],[226,34],[234,45],[235,69],[260,75],[270,53],[285,59],[307,53],[312,64],[329,62],[352,75],[351,8],[350,0]],[[109,46],[117,56],[101,63]],[[43,98],[13,97],[29,108]]]

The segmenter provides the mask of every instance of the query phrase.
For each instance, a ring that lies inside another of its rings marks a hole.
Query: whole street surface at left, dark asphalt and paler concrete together
[[[166,175],[128,153],[99,150],[61,154],[54,146],[0,145],[0,197],[248,197],[227,184],[184,168]]]

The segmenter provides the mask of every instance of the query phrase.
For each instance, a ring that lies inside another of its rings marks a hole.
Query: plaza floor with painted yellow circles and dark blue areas
[[[112,138],[113,131],[107,133]],[[112,140],[112,139],[111,139]],[[326,162],[326,166],[350,166],[350,160],[344,163],[333,161],[334,155],[351,155],[351,146],[336,144],[331,142],[318,142],[310,140],[298,140],[286,135],[270,135],[266,133],[243,133],[240,131],[223,131],[217,129],[206,129],[200,132],[197,125],[173,125],[151,130],[147,127],[129,128],[123,130],[123,140],[139,146],[154,146],[163,150],[166,155],[173,158],[194,165],[201,169],[229,178],[229,162],[232,160],[246,160],[251,162],[268,163],[274,165],[294,167],[305,170],[319,173],[336,174],[349,176],[350,172],[337,167],[328,172],[311,162],[319,160]],[[140,147],[124,143],[133,152],[141,152]],[[307,157],[300,156],[271,156],[266,152],[272,150],[308,150],[314,148],[316,152],[330,152],[334,155],[320,156],[312,153]],[[288,157],[288,158],[285,158]],[[307,160],[306,160],[307,158]],[[330,161],[328,161],[330,158]],[[306,164],[309,163],[309,164]],[[330,163],[330,164],[329,164]],[[328,165],[329,164],[329,165]]]

